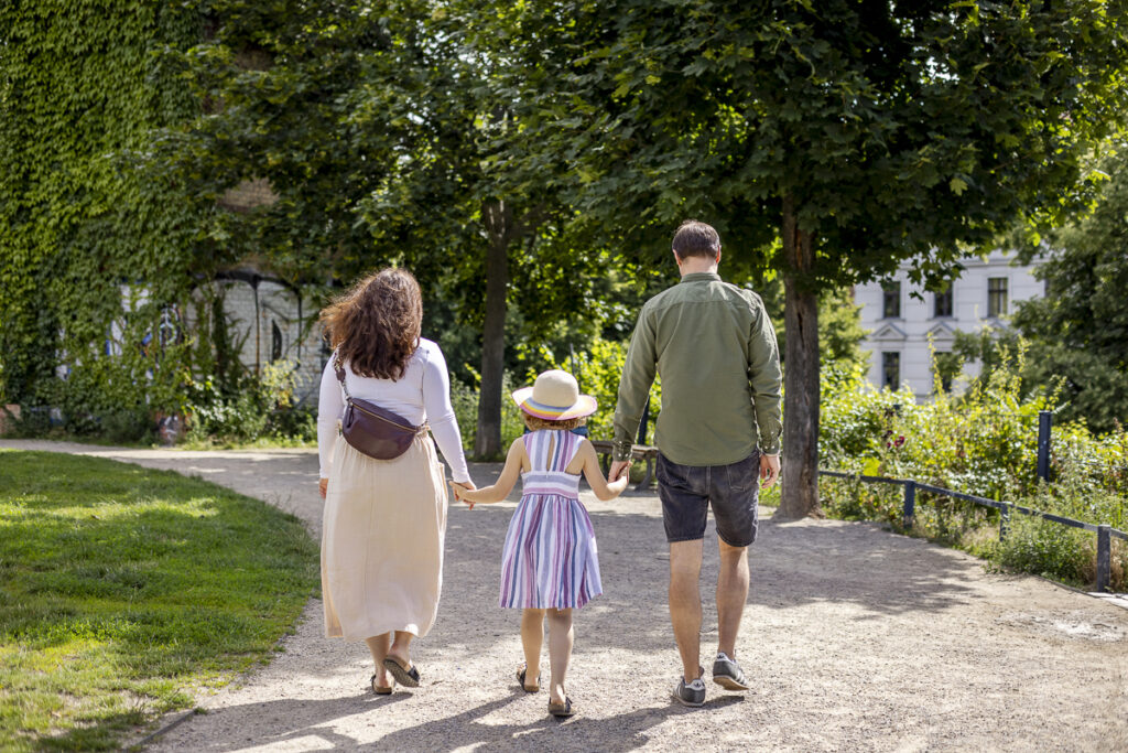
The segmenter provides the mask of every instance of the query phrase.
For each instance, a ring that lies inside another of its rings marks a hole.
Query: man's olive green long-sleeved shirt
[[[779,348],[755,292],[694,272],[642,307],[615,409],[614,458],[631,457],[643,406],[662,380],[655,444],[680,465],[779,452]]]

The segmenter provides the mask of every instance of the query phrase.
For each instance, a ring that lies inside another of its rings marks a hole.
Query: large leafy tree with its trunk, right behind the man
[[[562,189],[581,214],[654,245],[686,216],[707,219],[783,275],[787,517],[818,505],[818,290],[905,259],[938,284],[1015,221],[1084,207],[1084,158],[1125,106],[1122,2],[509,12],[514,33],[490,38],[515,61],[523,125],[569,156]]]

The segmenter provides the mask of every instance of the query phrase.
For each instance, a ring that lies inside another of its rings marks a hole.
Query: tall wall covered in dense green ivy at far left
[[[0,403],[175,406],[168,322],[215,264],[195,234],[217,210],[142,166],[200,111],[168,53],[201,34],[178,2],[0,3]]]

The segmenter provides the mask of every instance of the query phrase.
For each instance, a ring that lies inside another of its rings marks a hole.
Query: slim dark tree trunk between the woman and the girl
[[[486,319],[482,329],[482,389],[474,456],[501,454],[501,383],[505,369],[505,288],[509,283],[509,243],[512,210],[503,201],[482,208],[490,245],[486,249]]]

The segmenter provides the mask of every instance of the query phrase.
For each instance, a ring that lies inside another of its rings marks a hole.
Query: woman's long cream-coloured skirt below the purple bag
[[[321,532],[325,634],[425,636],[442,590],[446,472],[429,436],[377,461],[337,437]]]

